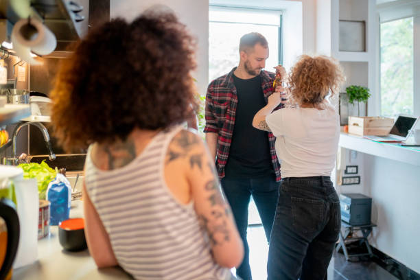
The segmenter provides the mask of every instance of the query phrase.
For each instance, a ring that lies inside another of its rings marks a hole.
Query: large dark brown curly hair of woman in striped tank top
[[[196,40],[172,13],[113,19],[60,65],[51,91],[54,135],[66,151],[160,130],[198,110]]]

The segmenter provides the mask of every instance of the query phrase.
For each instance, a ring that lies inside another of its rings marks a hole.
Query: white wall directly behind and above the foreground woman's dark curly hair
[[[178,19],[187,25],[189,31],[198,40],[196,54],[198,92],[205,95],[209,80],[209,1],[207,0],[110,0],[110,18],[120,16],[127,20],[136,16],[152,5],[163,4],[174,10]]]

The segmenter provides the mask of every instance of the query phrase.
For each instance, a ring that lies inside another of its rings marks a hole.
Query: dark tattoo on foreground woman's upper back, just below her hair
[[[112,147],[106,146],[104,150],[108,154],[110,170],[128,165],[128,163],[136,158],[136,146],[130,139],[127,139],[125,142],[116,143]]]

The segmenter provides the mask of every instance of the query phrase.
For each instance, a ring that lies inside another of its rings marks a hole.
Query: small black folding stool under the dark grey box
[[[345,254],[347,261],[349,261],[351,257],[362,257],[362,256],[372,257],[373,256],[372,248],[369,245],[367,238],[371,234],[372,228],[375,226],[376,224],[364,224],[360,226],[352,226],[351,224],[347,224],[347,222],[341,221],[341,227],[344,228],[344,235],[342,234],[342,231],[340,230],[340,236],[339,236],[340,243],[337,245],[336,251],[338,252],[338,250],[342,248],[342,251]],[[356,231],[362,231],[363,237],[351,237],[351,235],[353,235],[353,233]],[[346,241],[359,241],[359,246],[361,246],[364,243],[366,245],[367,253],[349,254],[346,248]]]

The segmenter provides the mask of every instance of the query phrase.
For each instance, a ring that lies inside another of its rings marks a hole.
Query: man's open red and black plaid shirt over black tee
[[[216,168],[220,178],[224,177],[224,167],[229,157],[233,127],[235,126],[237,92],[232,77],[235,69],[236,67],[228,74],[213,80],[207,88],[206,95],[206,126],[204,132],[218,133]],[[275,73],[261,71],[259,75],[261,75],[261,87],[263,89],[264,99],[267,102],[268,96],[273,92],[272,82],[274,81]],[[278,108],[281,108],[281,106]],[[280,164],[275,150],[276,139],[272,135],[272,132],[268,132],[267,135],[268,142],[270,143],[272,166],[278,182],[281,180],[281,177]],[[250,141],[252,140],[250,139]]]

